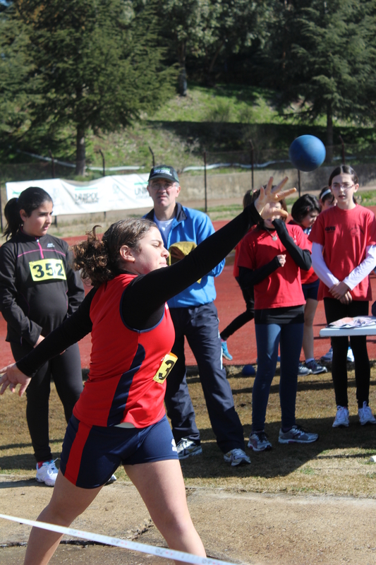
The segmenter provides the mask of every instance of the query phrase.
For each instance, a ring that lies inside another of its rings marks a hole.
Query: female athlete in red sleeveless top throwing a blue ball
[[[168,251],[149,220],[116,222],[102,241],[93,230],[75,247],[75,266],[94,288],[27,357],[1,369],[0,393],[20,383],[22,395],[42,362],[92,332],[89,380],[66,430],[51,501],[38,520],[70,525],[122,464],[169,547],[205,556],[164,412],[165,379],[174,364],[166,300],[222,261],[260,221],[267,203],[295,191],[281,190],[286,180],[272,189],[270,179],[252,206],[169,267]],[[60,539],[58,533],[32,528],[25,564],[47,564]]]

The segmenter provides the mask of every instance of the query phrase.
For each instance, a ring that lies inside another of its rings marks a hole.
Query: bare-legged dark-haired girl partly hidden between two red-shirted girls
[[[312,230],[313,224],[317,216],[321,212],[320,203],[315,196],[303,194],[293,203],[291,215],[293,222],[299,225],[307,238],[309,249],[312,244],[308,241],[308,235]],[[305,363],[299,365],[300,375],[326,373],[327,368],[323,367],[315,361],[313,353],[313,319],[317,309],[317,292],[319,290],[319,278],[317,277],[313,267],[310,270],[301,271],[301,283],[303,295],[305,298],[304,307],[304,331],[303,331],[303,352]]]

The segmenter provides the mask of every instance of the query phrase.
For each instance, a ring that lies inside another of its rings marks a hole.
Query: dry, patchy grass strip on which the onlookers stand
[[[244,377],[241,367],[231,366],[228,378],[234,403],[248,440],[252,418],[254,377]],[[376,452],[376,426],[360,426],[355,398],[353,371],[348,374],[350,427],[332,428],[335,405],[330,373],[311,375],[298,381],[296,415],[299,424],[317,432],[317,442],[309,445],[278,443],[280,427],[279,376],[274,377],[267,408],[265,431],[272,450],[250,454],[251,465],[231,468],[217,447],[200,379],[195,368],[188,376],[188,387],[202,439],[202,456],[181,462],[187,487],[220,487],[243,492],[285,492],[289,494],[333,494],[375,498],[375,470],[368,463]],[[371,369],[370,405],[376,405],[376,369]],[[25,421],[25,398],[4,394],[0,402],[0,472],[34,477],[35,461]],[[66,429],[63,409],[51,386],[50,436],[54,457],[59,457]],[[122,468],[119,480],[128,481]]]

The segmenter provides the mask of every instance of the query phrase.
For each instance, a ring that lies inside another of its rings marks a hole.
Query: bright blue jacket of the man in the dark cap
[[[193,208],[181,206],[180,203],[176,203],[176,206],[176,216],[172,222],[167,241],[164,239],[164,234],[162,234],[166,249],[169,249],[176,242],[195,242],[195,244],[200,244],[214,233],[212,222],[206,214],[193,210]],[[154,222],[154,208],[145,215],[145,218]],[[210,273],[202,277],[200,283],[191,285],[180,294],[174,296],[174,298],[171,298],[168,302],[169,308],[189,308],[213,302],[217,297],[214,277],[220,275],[223,268],[224,260],[212,269]]]

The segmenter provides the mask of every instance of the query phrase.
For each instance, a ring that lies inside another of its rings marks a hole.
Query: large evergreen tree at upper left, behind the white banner
[[[176,71],[162,64],[152,4],[135,14],[125,0],[16,0],[5,13],[8,29],[27,37],[17,45],[13,33],[11,51],[25,59],[30,129],[75,126],[76,174],[85,171],[88,129],[115,131],[173,91]]]

